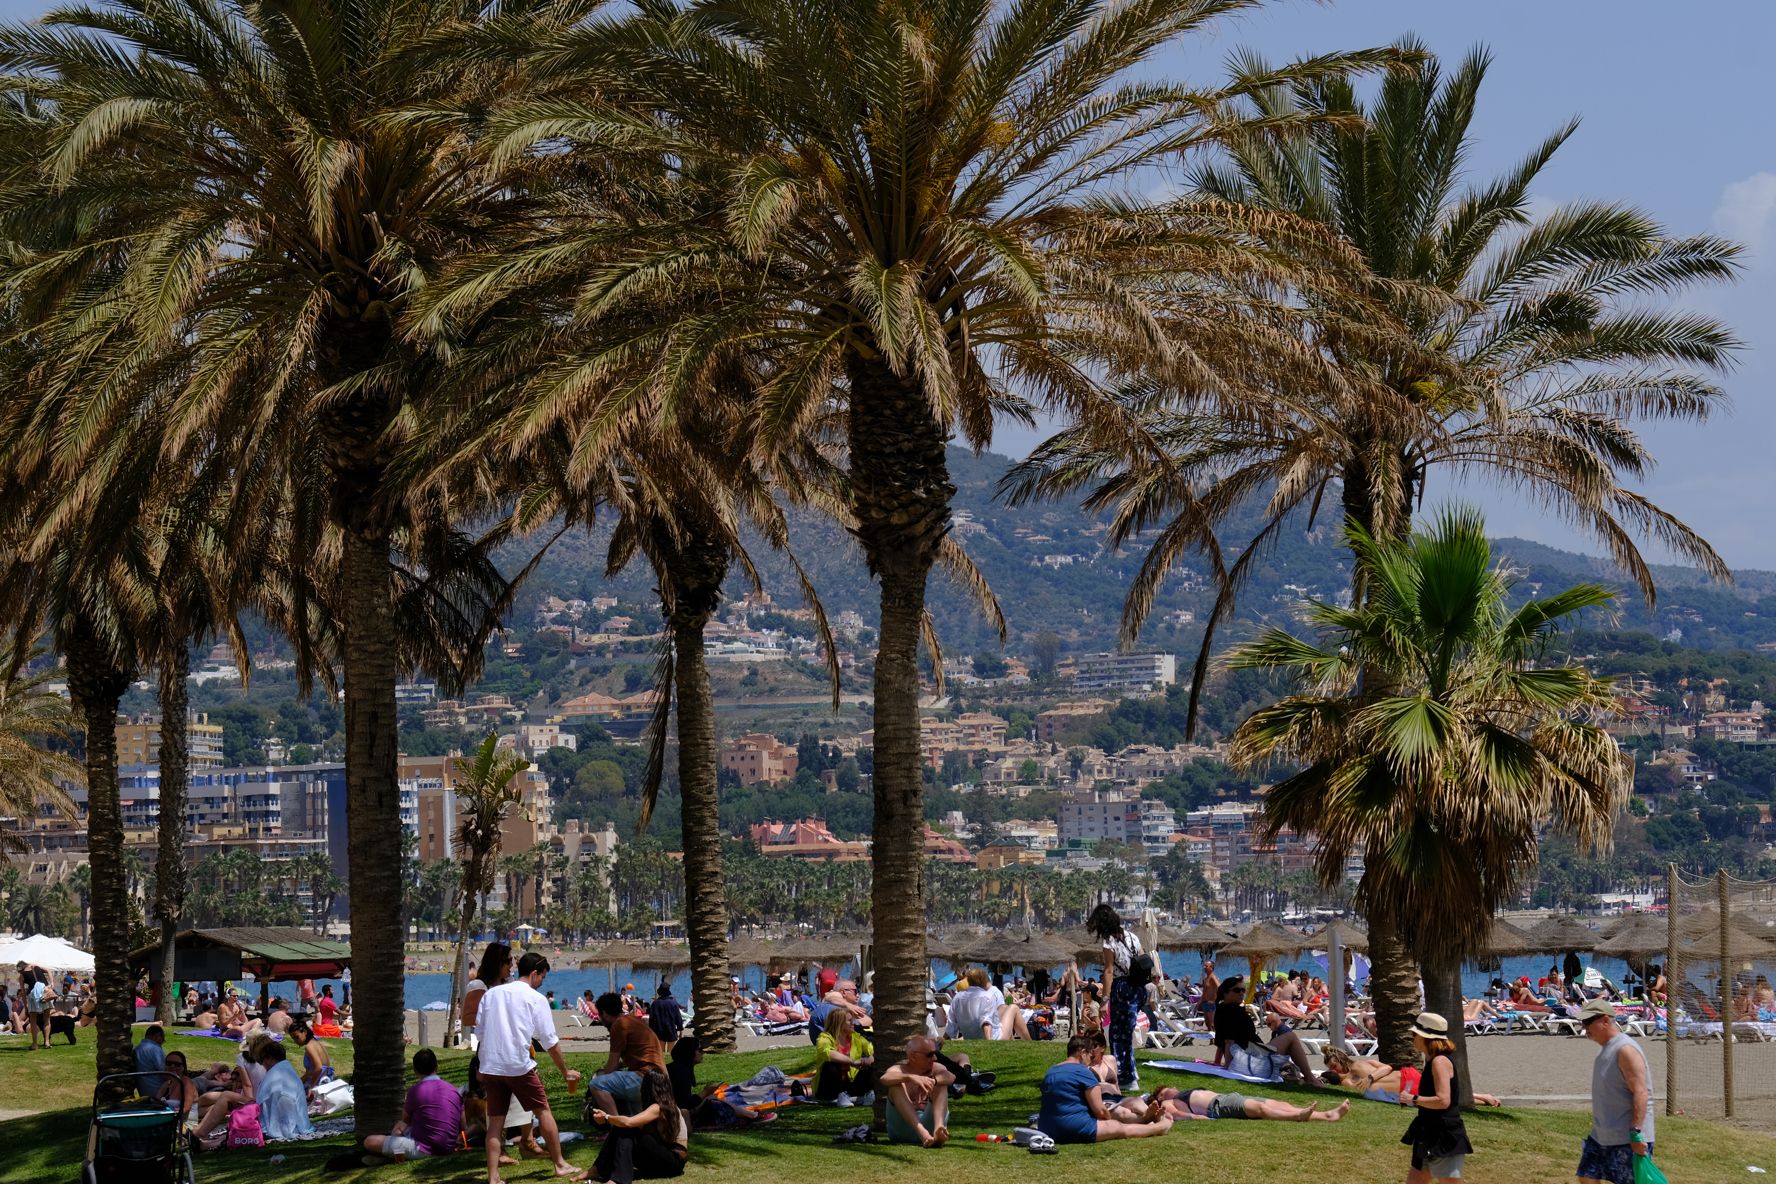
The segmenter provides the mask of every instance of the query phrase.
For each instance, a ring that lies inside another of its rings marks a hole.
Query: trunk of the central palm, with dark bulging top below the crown
[[[877,1044],[925,1031],[925,783],[918,747],[918,637],[925,579],[950,527],[948,433],[911,380],[879,359],[847,357],[851,506],[881,584],[876,650],[876,822],[870,928]]]

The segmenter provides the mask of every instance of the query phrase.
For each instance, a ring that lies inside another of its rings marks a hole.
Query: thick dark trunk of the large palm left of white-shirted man
[[[352,1085],[357,1129],[382,1133],[401,1117],[407,1021],[394,722],[398,659],[387,534],[345,533],[343,586]]]

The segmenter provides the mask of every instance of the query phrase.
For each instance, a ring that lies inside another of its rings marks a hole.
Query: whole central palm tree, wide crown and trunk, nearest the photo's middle
[[[1263,353],[1227,302],[1197,295],[1213,280],[1153,291],[1122,279],[1201,247],[1202,225],[1106,197],[1144,165],[1250,131],[1215,112],[1268,78],[1224,91],[1126,78],[1162,44],[1256,2],[659,5],[545,46],[538,107],[513,115],[503,142],[513,156],[545,140],[609,144],[606,112],[572,96],[614,73],[600,94],[636,108],[622,117],[623,147],[710,170],[725,195],[687,225],[599,234],[599,250],[614,241],[620,257],[584,288],[583,312],[670,305],[689,272],[723,298],[559,367],[559,387],[584,389],[638,353],[657,357],[652,382],[597,399],[595,426],[675,407],[730,343],[773,348],[760,449],[812,431],[840,401],[847,509],[881,589],[872,925],[890,1046],[925,1024],[918,646],[925,580],[950,545],[945,447],[957,428],[986,447],[995,419],[1027,419],[1032,405],[1098,417],[1108,401],[1096,375],[1240,385],[1233,371]],[[543,254],[503,266],[542,268]],[[1217,275],[1240,266],[1231,247],[1201,256]],[[1165,320],[1190,350],[1172,348]]]

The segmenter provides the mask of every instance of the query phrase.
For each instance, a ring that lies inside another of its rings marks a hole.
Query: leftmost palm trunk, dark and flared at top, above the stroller
[[[67,639],[67,689],[87,722],[87,859],[92,866],[92,987],[98,1076],[131,1072],[135,980],[130,973],[130,880],[123,863],[123,802],[117,792],[117,703],[130,671],[85,621]]]

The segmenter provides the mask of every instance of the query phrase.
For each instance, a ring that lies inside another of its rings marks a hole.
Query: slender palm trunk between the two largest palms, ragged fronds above
[[[728,549],[691,524],[664,573],[671,588],[673,680],[678,712],[678,795],[684,845],[684,928],[691,944],[691,1008],[696,1037],[712,1053],[733,1051],[728,992],[728,893],[721,873],[721,804],[716,795],[716,694],[709,685],[703,628],[721,604]]]

